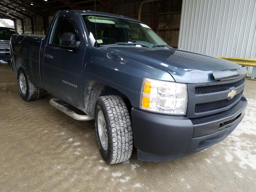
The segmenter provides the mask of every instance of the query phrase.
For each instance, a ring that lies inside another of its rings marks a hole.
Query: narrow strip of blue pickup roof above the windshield
[[[63,12],[71,12],[71,13],[78,13],[78,14],[81,14],[81,15],[84,15],[84,14],[88,14],[88,15],[101,15],[101,16],[110,16],[110,17],[116,17],[116,18],[122,18],[122,19],[128,19],[128,20],[133,20],[133,21],[137,21],[137,22],[140,22],[134,18],[130,18],[130,17],[125,17],[125,16],[122,16],[122,15],[116,15],[116,14],[111,14],[111,13],[104,13],[104,12],[98,12],[98,11],[90,11],[90,10],[60,10],[59,11],[60,13],[63,13]]]

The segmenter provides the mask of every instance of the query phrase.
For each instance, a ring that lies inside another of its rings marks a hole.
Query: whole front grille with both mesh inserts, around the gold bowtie
[[[226,81],[187,84],[188,106],[186,116],[198,118],[223,112],[237,104],[244,90],[245,78]],[[228,92],[235,90],[237,95],[228,99]]]

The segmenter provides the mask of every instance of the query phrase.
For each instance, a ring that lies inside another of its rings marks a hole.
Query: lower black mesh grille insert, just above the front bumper
[[[228,100],[220,100],[220,101],[214,101],[214,102],[209,102],[209,103],[201,103],[201,104],[196,104],[195,105],[195,113],[200,113],[200,112],[206,112],[206,111],[211,111],[211,110],[216,110],[220,108],[227,107],[234,102],[236,102],[240,97],[242,96],[242,92],[234,96],[234,98]]]

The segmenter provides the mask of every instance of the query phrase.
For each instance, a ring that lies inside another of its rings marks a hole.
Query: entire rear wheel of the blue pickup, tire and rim
[[[20,96],[25,101],[37,100],[40,96],[40,87],[32,83],[24,68],[20,68],[17,74],[17,84]]]

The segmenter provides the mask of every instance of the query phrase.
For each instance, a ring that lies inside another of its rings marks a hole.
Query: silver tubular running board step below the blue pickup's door
[[[68,116],[72,117],[75,120],[78,120],[78,121],[89,121],[89,120],[93,120],[94,119],[94,117],[89,116],[89,115],[79,115],[76,112],[66,108],[64,105],[59,104],[58,102],[61,102],[61,100],[58,99],[58,98],[52,98],[49,103],[52,106],[54,106],[55,108],[57,108],[58,110],[64,112],[65,114],[67,114]]]

